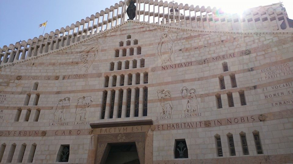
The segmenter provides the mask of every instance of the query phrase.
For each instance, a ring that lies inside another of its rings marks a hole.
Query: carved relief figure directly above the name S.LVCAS
[[[162,112],[160,115],[171,115],[172,114],[172,101],[167,101],[167,98],[171,98],[171,92],[162,90],[157,90],[158,100],[161,101],[160,105],[162,107]]]

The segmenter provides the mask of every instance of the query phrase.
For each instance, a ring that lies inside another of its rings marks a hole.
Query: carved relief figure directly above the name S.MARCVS
[[[75,121],[85,121],[86,108],[92,104],[92,96],[79,97],[77,100]],[[81,106],[81,108],[78,108]]]

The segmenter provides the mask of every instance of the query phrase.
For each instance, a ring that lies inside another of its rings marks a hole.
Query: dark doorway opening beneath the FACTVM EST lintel
[[[109,143],[106,164],[140,164],[135,142]]]

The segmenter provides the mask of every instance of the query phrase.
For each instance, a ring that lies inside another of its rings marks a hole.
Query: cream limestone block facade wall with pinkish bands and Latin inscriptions
[[[13,143],[16,149],[12,162],[17,162],[23,143],[27,145],[23,161],[29,159],[29,150],[35,143],[34,163],[55,163],[60,145],[70,145],[69,163],[86,163],[92,135],[103,132],[91,132],[89,123],[147,119],[154,124],[150,129],[154,163],[232,157],[228,133],[233,135],[236,161],[266,155],[283,158],[293,151],[292,40],[291,32],[204,32],[130,21],[65,50],[1,68],[0,145],[6,144],[1,163],[9,158]],[[126,60],[129,69],[125,69]],[[133,60],[137,68],[133,68]],[[223,62],[228,71],[224,71]],[[132,85],[127,85],[129,73],[133,75]],[[139,84],[136,73],[140,76]],[[148,73],[146,84],[144,73]],[[121,74],[125,75],[123,86],[119,82]],[[232,87],[231,74],[237,87]],[[114,75],[117,80],[112,87]],[[223,77],[225,89],[221,89],[219,77]],[[143,116],[145,87],[147,116]],[[130,116],[126,117],[128,88],[131,106]],[[123,90],[121,118],[119,90]],[[103,91],[107,91],[105,108]],[[111,91],[115,92],[113,99]],[[241,93],[246,105],[241,104]],[[231,94],[233,107],[228,103]],[[38,104],[34,105],[37,95]],[[216,102],[219,95],[222,108]],[[101,119],[103,109],[105,115]],[[259,132],[263,154],[256,152],[255,131]],[[246,135],[249,155],[243,154],[241,132]],[[223,157],[217,154],[215,135],[221,137]],[[186,140],[188,159],[174,159],[175,139]]]

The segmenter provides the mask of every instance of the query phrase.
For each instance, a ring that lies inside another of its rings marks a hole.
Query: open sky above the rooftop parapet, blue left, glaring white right
[[[293,19],[293,2],[284,0],[289,18]],[[170,2],[170,0],[168,1]],[[178,3],[189,5],[204,5],[222,8],[224,11],[239,11],[260,5],[269,5],[278,0],[246,0],[245,4],[239,1],[221,0],[180,0]],[[0,0],[0,47],[15,44],[19,40],[32,39],[42,35],[44,27],[38,25],[48,21],[44,33],[55,31],[61,27],[70,26],[76,21],[100,12],[111,5],[119,3],[118,0]]]

